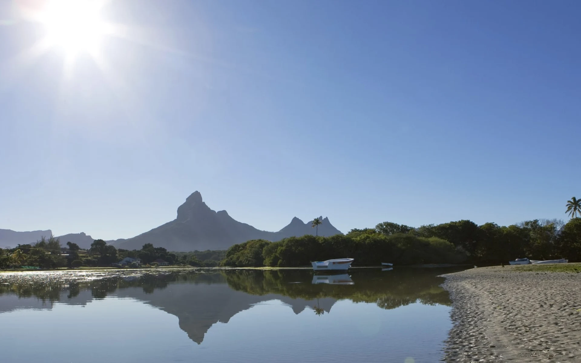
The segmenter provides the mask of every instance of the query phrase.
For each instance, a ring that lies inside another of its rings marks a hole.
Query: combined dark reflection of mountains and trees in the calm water
[[[338,300],[394,309],[411,303],[450,305],[437,274],[450,269],[351,269],[314,275],[307,269],[157,269],[137,271],[23,272],[0,275],[0,316],[21,309],[51,309],[55,303],[86,305],[114,296],[142,301],[178,318],[201,344],[210,327],[243,310],[280,300],[295,314],[306,308],[331,312]],[[457,271],[454,270],[454,271]],[[297,283],[299,282],[299,283]]]

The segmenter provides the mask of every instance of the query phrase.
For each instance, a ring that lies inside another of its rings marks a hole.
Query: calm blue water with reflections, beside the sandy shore
[[[0,274],[0,361],[436,362],[452,271]]]

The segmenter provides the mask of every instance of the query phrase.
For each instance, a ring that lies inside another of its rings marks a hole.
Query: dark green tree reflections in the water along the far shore
[[[211,284],[227,283],[233,290],[252,295],[279,294],[292,299],[314,300],[317,315],[322,315],[318,299],[349,299],[354,303],[375,303],[383,309],[394,309],[412,303],[450,305],[450,299],[439,285],[443,278],[437,274],[446,271],[434,269],[400,268],[389,275],[379,269],[353,269],[353,285],[313,284],[313,272],[307,269],[216,269],[177,270],[156,274],[124,275],[103,274],[102,278],[84,280],[75,274],[10,275],[2,276],[0,294],[36,297],[43,303],[74,299],[83,291],[90,291],[93,299],[105,299],[118,289],[141,288],[144,293],[166,289],[170,283]],[[62,295],[66,292],[66,295]]]

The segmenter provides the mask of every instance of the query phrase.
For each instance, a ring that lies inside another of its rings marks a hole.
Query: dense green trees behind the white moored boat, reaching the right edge
[[[250,240],[234,245],[222,264],[232,267],[297,267],[330,258],[355,258],[353,265],[508,263],[517,257],[581,261],[581,218],[567,224],[534,220],[508,227],[462,220],[412,228],[383,222],[347,235],[306,235],[278,242]]]

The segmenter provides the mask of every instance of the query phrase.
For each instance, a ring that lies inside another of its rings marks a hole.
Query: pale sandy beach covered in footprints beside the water
[[[444,275],[454,322],[444,361],[581,362],[581,266],[568,265]]]

